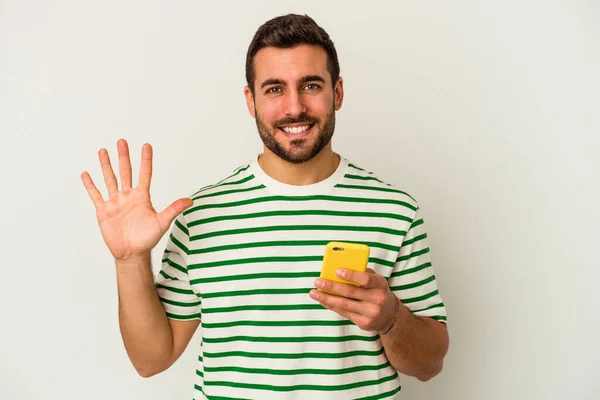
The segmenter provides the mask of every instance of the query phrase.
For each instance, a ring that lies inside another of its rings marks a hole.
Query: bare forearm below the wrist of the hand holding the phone
[[[381,341],[396,370],[426,381],[442,370],[449,339],[444,324],[415,316],[400,304],[398,319],[387,334],[381,335]]]

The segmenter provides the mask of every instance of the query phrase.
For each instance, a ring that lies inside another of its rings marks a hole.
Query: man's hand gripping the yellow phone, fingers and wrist
[[[398,300],[386,279],[370,268],[367,268],[366,272],[338,269],[336,275],[360,286],[319,278],[315,281],[317,288],[337,293],[339,296],[311,290],[310,297],[323,307],[348,318],[363,330],[386,330],[398,310]]]

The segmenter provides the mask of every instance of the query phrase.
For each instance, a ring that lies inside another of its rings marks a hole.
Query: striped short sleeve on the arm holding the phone
[[[406,232],[388,284],[413,314],[447,322],[446,307],[438,290],[419,208]]]

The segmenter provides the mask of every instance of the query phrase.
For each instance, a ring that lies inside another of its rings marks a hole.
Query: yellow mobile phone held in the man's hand
[[[339,268],[345,268],[358,272],[365,272],[367,270],[367,263],[369,262],[369,253],[370,249],[366,244],[346,242],[327,243],[325,255],[323,256],[323,265],[321,267],[321,278],[359,286],[354,282],[338,278],[335,271]],[[337,294],[328,290],[318,290]]]

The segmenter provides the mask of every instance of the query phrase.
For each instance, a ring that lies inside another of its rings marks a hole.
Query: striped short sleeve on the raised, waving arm
[[[171,227],[161,268],[155,277],[158,297],[167,317],[178,320],[200,319],[201,299],[188,276],[189,230],[183,214]]]

